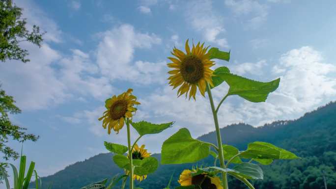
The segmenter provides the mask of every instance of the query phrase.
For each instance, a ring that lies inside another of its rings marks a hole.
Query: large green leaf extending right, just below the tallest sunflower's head
[[[228,68],[224,66],[214,71],[212,80],[214,86],[218,86],[225,81],[230,86],[228,95],[238,95],[254,103],[265,102],[268,94],[275,91],[280,82],[280,78],[270,82],[250,80],[231,74]]]

